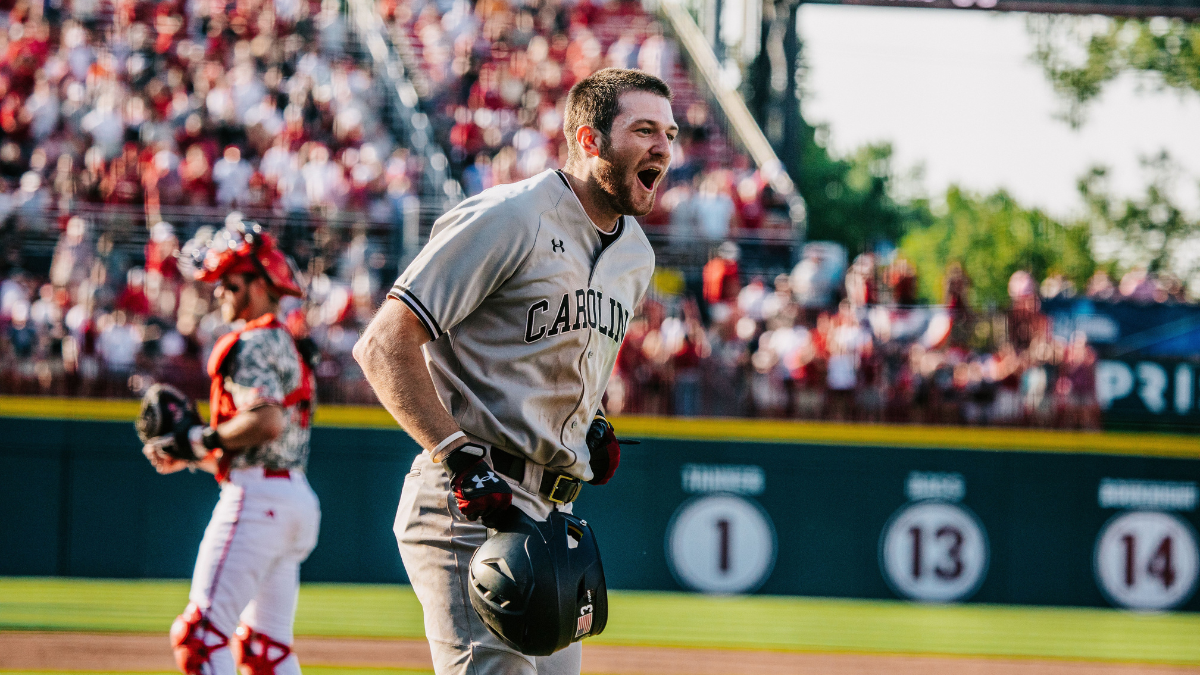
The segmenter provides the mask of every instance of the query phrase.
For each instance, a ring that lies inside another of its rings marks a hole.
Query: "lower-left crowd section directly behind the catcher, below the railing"
[[[284,298],[280,318],[318,354],[320,400],[372,402],[350,348],[382,300],[384,255],[361,225],[325,244],[306,275],[308,295]],[[16,268],[0,280],[0,393],[126,398],[168,382],[206,396],[204,364],[229,327],[211,285],[181,274],[179,249],[167,222],[138,256],[72,216],[48,277]]]

